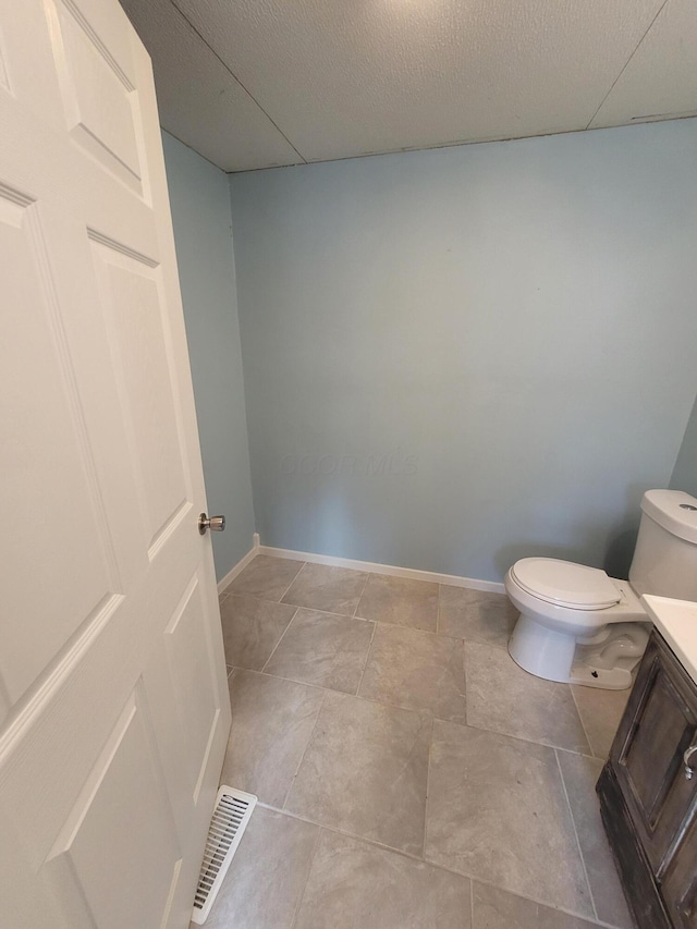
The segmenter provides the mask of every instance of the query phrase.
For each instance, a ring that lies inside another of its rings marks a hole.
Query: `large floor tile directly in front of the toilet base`
[[[589,754],[567,684],[523,671],[508,651],[465,643],[467,722],[479,729]]]

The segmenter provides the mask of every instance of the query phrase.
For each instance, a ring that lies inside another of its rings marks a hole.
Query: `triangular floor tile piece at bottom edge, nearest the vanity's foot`
[[[473,929],[592,929],[597,925],[478,881],[473,881],[472,894]]]

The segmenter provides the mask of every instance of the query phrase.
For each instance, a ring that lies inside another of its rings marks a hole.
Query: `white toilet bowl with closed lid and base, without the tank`
[[[527,558],[505,578],[521,611],[509,652],[538,677],[623,689],[644,655],[650,619],[628,582],[558,559]]]

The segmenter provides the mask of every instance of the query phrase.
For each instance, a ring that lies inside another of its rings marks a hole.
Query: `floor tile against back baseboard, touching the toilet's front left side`
[[[505,594],[440,586],[438,632],[441,635],[505,648],[517,619],[518,611]]]

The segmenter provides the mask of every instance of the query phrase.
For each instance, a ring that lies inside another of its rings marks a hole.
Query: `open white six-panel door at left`
[[[183,929],[230,707],[150,63],[0,0],[0,925]]]

